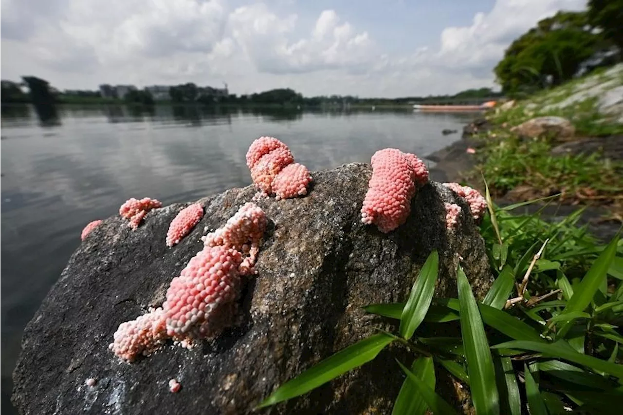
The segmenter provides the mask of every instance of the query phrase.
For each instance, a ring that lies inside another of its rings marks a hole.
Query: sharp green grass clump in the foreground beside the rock
[[[432,251],[405,303],[364,308],[395,319],[395,334],[379,330],[338,351],[280,386],[259,408],[295,399],[394,343],[411,353],[412,363],[394,367],[406,378],[392,415],[617,413],[623,398],[619,236],[602,245],[577,226],[579,212],[551,223],[538,212],[513,214],[523,204],[500,208],[487,199],[480,232],[497,278],[483,300],[473,297],[460,265],[459,298],[432,298],[425,287],[434,286],[441,256]],[[460,332],[450,337],[423,337],[418,330],[457,322]],[[439,374],[469,389],[472,408],[453,408],[449,396],[437,394]]]

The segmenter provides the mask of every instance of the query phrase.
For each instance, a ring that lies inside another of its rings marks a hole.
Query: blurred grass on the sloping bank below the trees
[[[497,197],[527,200],[559,193],[564,203],[606,206],[611,218],[623,221],[621,160],[609,160],[607,153],[552,155],[551,150],[560,144],[554,137],[521,139],[510,131],[531,118],[555,116],[573,124],[578,140],[623,135],[623,123],[599,111],[599,85],[623,85],[623,70],[617,72],[617,68],[599,69],[518,101],[509,110],[489,112],[493,128],[477,137],[482,148],[477,154],[478,171],[471,178],[484,174]]]

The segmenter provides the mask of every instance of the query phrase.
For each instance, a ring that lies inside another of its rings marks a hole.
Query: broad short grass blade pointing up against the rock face
[[[435,292],[435,283],[439,270],[439,254],[437,250],[430,252],[430,255],[419,275],[413,284],[409,300],[407,300],[400,318],[400,335],[406,340],[410,340],[416,332],[416,328],[424,321],[424,316],[428,312],[432,296]]]

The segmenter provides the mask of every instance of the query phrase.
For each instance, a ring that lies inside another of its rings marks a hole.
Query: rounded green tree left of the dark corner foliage
[[[603,47],[584,12],[558,12],[516,39],[495,67],[508,94],[533,92],[569,80]]]

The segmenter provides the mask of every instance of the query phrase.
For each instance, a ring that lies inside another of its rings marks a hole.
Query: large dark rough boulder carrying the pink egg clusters
[[[72,255],[26,328],[14,404],[22,414],[37,415],[250,413],[280,384],[375,327],[395,330],[361,307],[404,301],[432,249],[439,249],[441,261],[436,295],[456,295],[460,254],[482,298],[491,281],[477,227],[462,214],[456,233],[445,229],[444,202],[469,212],[465,201],[439,183],[427,184],[414,197],[407,223],[382,234],[361,223],[370,176],[369,165],[344,165],[313,173],[305,198],[258,201],[269,229],[259,274],[240,298],[237,325],[193,350],[168,344],[132,364],[108,350],[113,332],[161,304],[171,279],[202,248],[204,226],[224,224],[256,189],[200,199],[206,214],[170,249],[166,231],[181,204],[149,212],[136,231],[118,216],[106,219]],[[451,330],[457,334],[457,327]],[[403,348],[391,346],[363,368],[260,413],[390,413],[404,379],[396,356],[407,361]],[[89,378],[95,386],[85,384]],[[181,384],[178,393],[169,391],[173,378]]]

